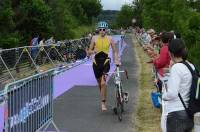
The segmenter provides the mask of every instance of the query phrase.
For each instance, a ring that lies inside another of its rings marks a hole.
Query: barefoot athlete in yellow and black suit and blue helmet
[[[101,95],[101,109],[107,110],[106,107],[106,74],[110,70],[110,58],[108,57],[109,48],[112,48],[114,54],[114,63],[120,64],[115,42],[112,37],[107,35],[108,24],[104,21],[98,23],[99,34],[92,37],[88,54],[95,54],[93,61],[93,70],[98,82]]]

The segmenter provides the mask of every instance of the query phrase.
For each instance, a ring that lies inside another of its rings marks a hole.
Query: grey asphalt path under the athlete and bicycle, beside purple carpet
[[[126,38],[127,46],[122,55],[122,69],[128,70],[129,79],[123,76],[123,87],[129,92],[129,102],[125,105],[122,122],[113,114],[114,84],[108,82],[108,111],[102,112],[97,86],[75,86],[56,98],[54,121],[61,132],[134,132],[134,111],[137,97],[136,57],[132,39]],[[81,75],[81,74],[80,74]],[[77,75],[77,76],[80,76]],[[50,129],[49,129],[50,130]]]

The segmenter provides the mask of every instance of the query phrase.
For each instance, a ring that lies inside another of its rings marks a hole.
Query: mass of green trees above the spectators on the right
[[[200,67],[200,0],[140,0],[142,25],[157,31],[175,30],[185,40],[189,60]]]

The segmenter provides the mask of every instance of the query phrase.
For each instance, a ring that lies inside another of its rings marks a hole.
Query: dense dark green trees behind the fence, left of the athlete
[[[100,0],[1,0],[0,46],[27,45],[33,34],[71,39],[100,11]]]

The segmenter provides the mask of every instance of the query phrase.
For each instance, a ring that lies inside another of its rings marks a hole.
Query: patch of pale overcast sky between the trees
[[[120,10],[125,3],[132,3],[133,0],[101,0],[103,10]]]

